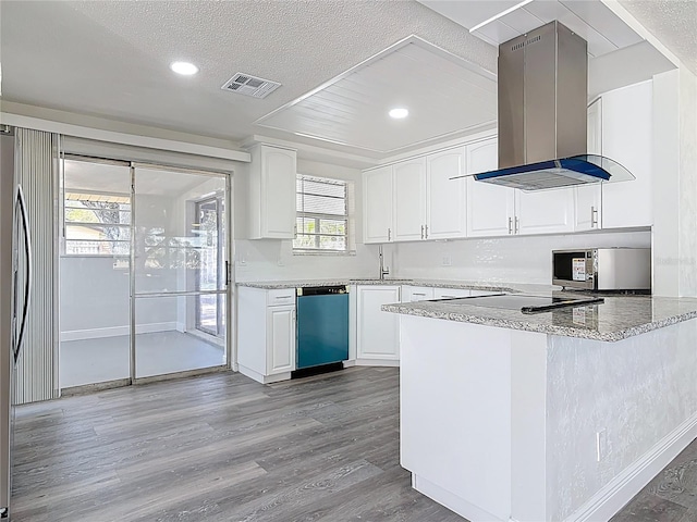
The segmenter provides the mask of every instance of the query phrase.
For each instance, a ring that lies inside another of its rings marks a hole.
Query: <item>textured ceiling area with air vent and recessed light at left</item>
[[[2,0],[0,9],[3,100],[233,141],[288,139],[254,122],[412,34],[496,70],[493,47],[413,1]],[[174,60],[200,73],[178,76]],[[235,72],[283,85],[264,100],[222,91]]]

